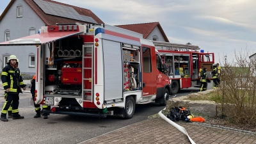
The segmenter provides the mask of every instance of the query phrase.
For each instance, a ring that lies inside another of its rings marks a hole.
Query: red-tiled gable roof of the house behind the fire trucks
[[[166,42],[169,42],[167,36],[164,33],[163,28],[159,24],[159,22],[149,22],[149,23],[141,23],[141,24],[125,24],[125,25],[117,25],[119,28],[128,29],[130,31],[135,31],[136,33],[141,33],[143,35],[143,38],[147,38],[150,33],[156,28],[156,26],[159,28],[161,34],[164,37],[164,40]]]

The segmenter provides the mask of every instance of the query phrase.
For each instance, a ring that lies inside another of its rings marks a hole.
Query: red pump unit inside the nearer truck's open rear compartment
[[[65,61],[61,68],[63,84],[82,84],[82,61]]]

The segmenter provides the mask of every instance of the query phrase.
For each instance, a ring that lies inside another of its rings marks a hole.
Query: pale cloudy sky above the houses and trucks
[[[172,43],[198,45],[216,62],[235,50],[256,52],[255,0],[56,0],[92,10],[106,24],[160,22]],[[0,13],[10,0],[1,0]],[[254,50],[255,49],[255,50]],[[254,50],[254,51],[253,51]]]

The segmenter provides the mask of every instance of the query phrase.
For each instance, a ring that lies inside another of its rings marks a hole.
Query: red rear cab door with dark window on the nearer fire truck
[[[156,94],[156,55],[154,47],[142,47],[143,97]]]

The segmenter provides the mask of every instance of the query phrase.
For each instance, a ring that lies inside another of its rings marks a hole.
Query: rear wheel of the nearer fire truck
[[[129,119],[132,118],[135,111],[135,101],[133,97],[127,97],[125,100],[125,108],[124,108],[124,118]]]

